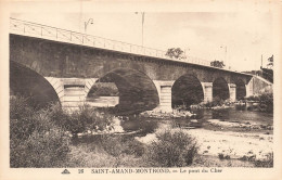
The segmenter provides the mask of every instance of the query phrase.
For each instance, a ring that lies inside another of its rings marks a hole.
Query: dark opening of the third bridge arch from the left
[[[171,88],[171,106],[185,105],[203,102],[204,91],[201,81],[197,77],[191,74],[185,74],[179,77]]]

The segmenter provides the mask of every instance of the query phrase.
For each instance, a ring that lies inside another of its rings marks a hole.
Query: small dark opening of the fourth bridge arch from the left
[[[216,78],[213,82],[213,99],[227,100],[230,98],[228,82],[225,78]]]

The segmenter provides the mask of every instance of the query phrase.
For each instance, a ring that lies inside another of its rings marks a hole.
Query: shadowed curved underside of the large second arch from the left
[[[119,103],[116,111],[120,114],[136,114],[155,108],[159,104],[157,89],[152,79],[142,72],[132,68],[116,68],[99,79],[92,79],[87,90],[87,100],[94,93],[94,85],[101,82],[115,83],[118,90]]]

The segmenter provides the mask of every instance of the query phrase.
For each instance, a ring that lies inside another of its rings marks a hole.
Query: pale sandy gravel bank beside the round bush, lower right
[[[156,133],[170,128],[164,125],[155,133],[136,138],[138,141],[150,144],[156,141]],[[174,131],[177,129],[170,129]],[[210,156],[209,158],[233,160],[266,160],[273,152],[273,136],[262,133],[216,131],[206,129],[182,129],[191,137],[195,138],[200,149],[198,155]],[[240,163],[240,162],[239,162]],[[241,162],[242,163],[242,162]],[[240,164],[241,164],[240,163]],[[236,163],[238,164],[238,163]],[[242,163],[244,164],[244,163]],[[248,163],[246,163],[248,164]],[[249,166],[249,164],[247,165]]]

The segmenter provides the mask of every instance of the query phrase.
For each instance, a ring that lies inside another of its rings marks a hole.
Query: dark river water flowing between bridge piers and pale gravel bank
[[[121,120],[121,126],[125,131],[140,131],[142,130],[144,136],[152,133],[162,124],[171,124],[175,127],[181,128],[203,128],[208,130],[221,130],[221,131],[246,131],[246,132],[262,132],[272,133],[271,129],[267,127],[273,126],[273,114],[264,113],[258,111],[247,111],[242,107],[228,107],[219,110],[192,110],[192,117],[142,117],[142,116],[129,116],[127,120]],[[218,119],[220,121],[239,123],[244,125],[256,125],[261,127],[260,129],[251,128],[222,128],[210,126],[208,120]]]

